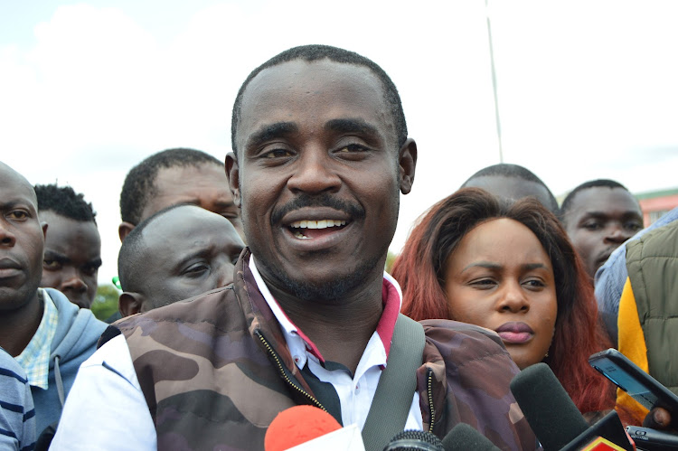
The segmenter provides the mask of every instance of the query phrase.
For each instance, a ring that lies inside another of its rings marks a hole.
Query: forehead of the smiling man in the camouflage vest
[[[238,148],[251,133],[282,122],[313,130],[334,118],[361,118],[395,139],[391,110],[371,70],[330,60],[287,61],[262,70],[242,97]]]

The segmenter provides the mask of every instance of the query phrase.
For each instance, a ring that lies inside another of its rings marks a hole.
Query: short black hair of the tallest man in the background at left
[[[155,195],[155,179],[160,169],[202,164],[223,165],[223,162],[200,150],[177,147],[151,155],[134,166],[127,173],[120,192],[122,221],[135,225],[141,221],[146,202]]]

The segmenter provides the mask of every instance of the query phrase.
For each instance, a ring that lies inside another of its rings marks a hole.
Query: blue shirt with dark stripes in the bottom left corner
[[[0,449],[35,446],[35,409],[24,370],[0,348]]]

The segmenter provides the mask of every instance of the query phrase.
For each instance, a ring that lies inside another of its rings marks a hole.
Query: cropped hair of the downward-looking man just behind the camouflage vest
[[[156,211],[144,221],[138,223],[137,227],[129,232],[129,235],[122,241],[120,250],[118,252],[118,278],[120,280],[120,287],[123,291],[137,291],[138,277],[143,275],[144,271],[139,268],[139,255],[143,249],[144,243],[142,233],[144,229],[151,222],[158,217],[164,215],[167,211],[172,211],[175,208],[185,207],[186,205],[193,205],[193,203],[175,203],[163,210]],[[137,277],[135,277],[137,276]]]

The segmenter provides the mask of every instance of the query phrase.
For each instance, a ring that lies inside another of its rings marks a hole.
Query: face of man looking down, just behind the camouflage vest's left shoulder
[[[230,284],[244,247],[231,222],[191,205],[158,216],[142,237],[136,258],[144,273],[135,284],[142,311]]]

